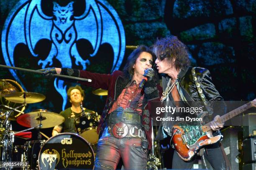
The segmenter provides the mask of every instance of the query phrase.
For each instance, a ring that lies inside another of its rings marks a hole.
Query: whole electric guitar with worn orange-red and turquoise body
[[[256,99],[219,117],[217,122],[224,123],[251,107],[256,107]],[[216,136],[212,135],[210,122],[205,125],[199,124],[190,125],[187,122],[179,122],[172,129],[174,148],[179,157],[184,161],[191,160],[202,147],[216,143],[223,137],[220,133]]]

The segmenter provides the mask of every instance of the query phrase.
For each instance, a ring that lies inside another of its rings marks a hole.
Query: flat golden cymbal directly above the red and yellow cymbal
[[[36,92],[13,92],[5,95],[5,99],[15,103],[23,103],[24,93],[26,96],[26,103],[41,102],[45,99],[45,95]]]

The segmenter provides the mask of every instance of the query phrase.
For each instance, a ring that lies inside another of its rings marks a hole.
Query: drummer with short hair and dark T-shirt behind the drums
[[[82,101],[84,100],[84,90],[79,85],[69,87],[67,90],[68,100],[71,103],[71,107],[63,110],[59,114],[65,118],[65,121],[61,125],[56,125],[52,130],[52,136],[58,135],[62,131],[64,133],[76,133],[74,129],[74,119],[79,117],[83,112],[89,112],[96,114],[95,111],[82,107]]]

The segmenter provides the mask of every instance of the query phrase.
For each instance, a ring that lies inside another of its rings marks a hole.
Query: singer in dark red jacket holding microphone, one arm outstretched
[[[98,132],[95,170],[115,170],[120,158],[125,169],[144,170],[151,148],[149,101],[159,99],[161,87],[152,68],[154,54],[141,45],[129,55],[125,68],[112,74],[91,73],[69,68],[48,68],[45,75],[62,74],[91,79],[79,82],[108,90]],[[147,77],[146,80],[143,78]]]

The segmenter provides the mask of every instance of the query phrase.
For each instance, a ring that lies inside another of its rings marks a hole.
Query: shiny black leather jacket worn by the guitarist
[[[196,77],[198,81],[200,82],[200,87],[206,97],[206,99],[210,102],[210,106],[213,110],[212,118],[213,119],[216,115],[224,115],[226,112],[226,105],[223,101],[223,97],[220,96],[218,90],[216,89],[215,85],[212,83],[212,79],[210,76],[209,70],[202,68],[202,67],[196,67],[195,69]],[[201,107],[203,106],[203,102],[198,103],[197,101],[202,101],[199,92],[197,90],[197,87],[195,85],[195,81],[193,80],[192,76],[192,67],[187,67],[185,69],[182,69],[179,72],[178,75],[178,85],[177,90],[180,95],[180,100],[184,103],[186,107]],[[162,83],[163,83],[163,91],[165,90],[167,83],[169,80],[169,76],[165,75],[162,77]],[[169,99],[172,101],[172,94],[169,94]],[[218,101],[218,102],[217,102]],[[169,104],[172,106],[172,103]],[[173,106],[172,106],[173,107]],[[203,107],[205,108],[205,107]],[[205,110],[208,111],[208,110]],[[172,130],[172,123],[169,123],[165,126],[165,132],[163,130],[162,124],[159,127],[159,132],[156,136],[156,140],[162,140],[163,138],[166,138],[166,134],[171,135]],[[166,127],[168,126],[168,127]],[[168,129],[168,130],[167,130]],[[166,132],[168,131],[168,132]]]

